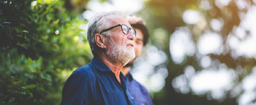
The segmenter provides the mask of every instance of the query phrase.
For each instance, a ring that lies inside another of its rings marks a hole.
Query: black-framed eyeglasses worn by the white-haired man
[[[123,31],[124,34],[127,35],[127,34],[129,33],[129,29],[130,29],[130,30],[132,31],[133,35],[136,37],[136,30],[133,29],[133,28],[127,27],[127,26],[124,25],[124,24],[119,24],[119,25],[110,27],[110,28],[108,28],[108,29],[105,29],[105,30],[101,31],[100,34],[102,34],[103,32],[106,32],[106,31],[108,31],[108,30],[110,30],[110,29],[113,29],[113,28],[115,28],[115,27],[118,27],[118,26],[120,26],[120,27],[122,28],[122,31]]]

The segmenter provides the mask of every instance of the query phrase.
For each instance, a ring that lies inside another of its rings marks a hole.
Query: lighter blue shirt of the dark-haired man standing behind
[[[127,74],[127,88],[132,96],[132,98],[136,101],[137,105],[153,105],[151,95],[148,90],[133,79],[130,71]]]

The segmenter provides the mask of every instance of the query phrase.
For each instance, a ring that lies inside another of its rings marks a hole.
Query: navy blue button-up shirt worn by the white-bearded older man
[[[127,79],[115,73],[94,56],[92,61],[73,71],[62,90],[61,105],[136,105],[127,90]]]

